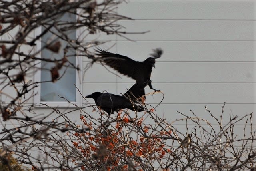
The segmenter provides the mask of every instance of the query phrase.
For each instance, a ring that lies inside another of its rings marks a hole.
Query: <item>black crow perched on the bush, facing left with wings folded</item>
[[[130,100],[121,95],[114,95],[110,93],[94,92],[87,95],[86,98],[93,98],[96,105],[100,109],[106,111],[109,115],[118,111],[118,109],[130,109],[133,111],[143,111],[142,108],[132,104]]]

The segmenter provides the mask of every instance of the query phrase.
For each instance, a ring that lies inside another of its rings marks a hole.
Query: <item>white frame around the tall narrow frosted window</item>
[[[77,20],[78,16],[76,16],[76,20]],[[35,29],[35,38],[36,36],[40,35],[42,33],[42,26],[38,27]],[[76,38],[78,38],[78,36],[81,36],[82,34],[82,29],[78,28],[76,30]],[[36,41],[36,52],[38,53],[38,58],[41,58],[41,38],[38,39]],[[76,50],[76,54],[78,54],[78,50]],[[79,66],[80,68],[80,72],[78,72],[76,70],[76,87],[79,89],[80,93],[82,94],[82,69],[83,69],[83,61],[81,57],[76,56],[76,66]],[[41,62],[40,61],[36,61],[36,66],[35,66],[35,74],[34,74],[34,81],[35,82],[41,82]],[[50,74],[50,72],[49,72]],[[34,96],[34,103],[36,104],[35,107],[47,107],[46,105],[50,106],[50,107],[76,107],[75,105],[77,105],[78,107],[82,106],[82,95],[79,93],[78,89],[76,89],[76,101],[70,101],[70,103],[68,103],[67,101],[41,101],[41,84],[38,83],[37,84],[38,87],[35,88],[35,93],[36,95]],[[75,87],[74,87],[75,88]],[[72,104],[75,105],[72,105]],[[46,105],[40,105],[40,104],[46,104]]]

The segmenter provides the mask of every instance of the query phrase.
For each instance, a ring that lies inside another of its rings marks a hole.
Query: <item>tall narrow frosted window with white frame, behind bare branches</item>
[[[76,15],[66,13],[58,19],[58,23],[67,23],[67,22],[76,22]],[[52,23],[53,21],[49,22]],[[46,28],[44,26],[36,29],[36,35],[40,35],[44,32]],[[68,45],[68,42],[58,38],[58,36],[63,36],[61,33],[58,33],[58,30],[55,28],[50,29],[51,32],[47,32],[44,34],[41,39],[37,42],[37,50],[40,51],[40,58],[45,59],[56,59],[60,60],[64,57],[64,48]],[[69,39],[76,40],[78,30],[68,30],[64,32],[68,35]],[[54,35],[54,33],[58,33],[58,36]],[[53,50],[49,50],[49,48],[44,48],[46,44],[54,44],[56,42],[60,42],[59,52],[53,52]],[[82,60],[75,56],[76,50],[68,49],[66,52],[67,59],[72,65],[79,66],[82,68]],[[52,74],[51,69],[56,66],[53,62],[45,62],[40,61],[36,66],[35,73],[35,81],[41,82],[37,87],[37,95],[35,96],[35,103],[44,103],[51,107],[72,107],[70,103],[66,101],[66,99],[76,105],[80,106],[82,97],[76,87],[81,91],[81,73],[72,67],[71,64],[65,63],[60,70],[58,70],[59,76],[61,77],[56,82],[52,82]],[[63,76],[62,76],[63,75]],[[76,85],[76,87],[75,87]],[[61,98],[64,97],[64,98]]]

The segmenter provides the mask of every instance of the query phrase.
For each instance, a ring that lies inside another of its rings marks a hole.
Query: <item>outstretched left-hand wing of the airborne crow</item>
[[[141,62],[132,60],[131,58],[119,54],[114,54],[104,50],[97,50],[97,55],[102,58],[102,61],[114,68],[121,74],[127,75],[134,80],[138,78],[138,69],[140,68]]]

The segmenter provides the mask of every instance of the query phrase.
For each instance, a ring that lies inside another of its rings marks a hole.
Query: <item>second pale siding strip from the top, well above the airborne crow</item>
[[[129,32],[131,40],[255,40],[256,21],[216,20],[122,20],[119,24]],[[103,39],[104,37],[102,37]],[[117,40],[124,40],[118,36]]]

